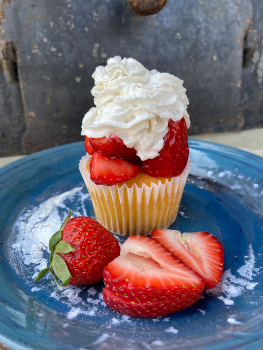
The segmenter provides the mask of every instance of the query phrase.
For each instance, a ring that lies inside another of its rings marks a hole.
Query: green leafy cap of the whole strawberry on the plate
[[[49,240],[48,247],[50,250],[50,258],[49,258],[49,266],[45,267],[43,270],[41,270],[38,274],[38,276],[34,279],[35,282],[39,281],[48,271],[51,273],[51,275],[54,278],[54,281],[56,282],[58,288],[59,283],[57,281],[57,278],[60,279],[62,282],[61,286],[66,287],[68,286],[70,280],[71,280],[71,273],[69,271],[69,268],[67,264],[65,263],[64,259],[61,258],[59,253],[67,254],[70,252],[76,252],[74,248],[71,247],[70,243],[62,240],[62,232],[69,222],[71,218],[71,209],[69,209],[69,215],[67,218],[64,219],[63,224],[60,227],[60,230],[55,232],[52,237]]]

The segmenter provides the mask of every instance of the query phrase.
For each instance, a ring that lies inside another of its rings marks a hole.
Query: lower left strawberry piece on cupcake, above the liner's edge
[[[90,179],[96,185],[114,185],[133,179],[139,172],[139,166],[124,159],[94,152],[89,163]]]

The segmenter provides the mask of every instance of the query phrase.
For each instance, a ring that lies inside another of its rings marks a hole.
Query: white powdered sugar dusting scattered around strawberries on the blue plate
[[[26,208],[25,211],[21,213],[11,232],[13,238],[12,241],[9,242],[10,247],[12,247],[10,249],[10,261],[15,269],[17,268],[16,266],[19,265],[17,264],[18,260],[20,264],[22,262],[22,264],[30,266],[27,276],[28,281],[32,283],[32,280],[38,272],[47,266],[49,258],[49,238],[59,229],[61,222],[68,215],[69,208],[72,208],[72,202],[75,204],[77,203],[77,205],[74,205],[75,209],[73,208],[72,211],[72,216],[75,217],[87,215],[84,203],[89,200],[90,198],[86,189],[83,187],[76,187],[70,191],[54,195],[37,206]],[[187,208],[183,208],[183,212],[185,216],[189,217],[190,214],[188,215]],[[123,237],[116,237],[121,244],[123,242]],[[32,244],[33,241],[34,244]],[[252,291],[257,285],[253,279],[259,274],[260,268],[256,268],[255,264],[255,254],[250,245],[244,256],[244,264],[239,267],[236,272],[231,271],[231,269],[225,270],[221,282],[214,289],[207,290],[206,294],[218,298],[222,301],[222,305],[227,305],[227,307],[234,305],[236,297],[241,296],[245,292]],[[65,317],[69,320],[68,322],[81,316],[89,320],[100,317],[107,318],[107,321],[104,323],[107,332],[104,333],[101,338],[97,339],[97,344],[107,341],[109,336],[108,331],[110,332],[118,328],[123,323],[129,328],[135,327],[133,318],[120,315],[106,306],[102,296],[102,285],[92,285],[90,287],[68,286],[65,288],[60,287],[58,290],[50,276],[45,276],[44,278],[48,279],[49,297],[65,307]],[[32,284],[31,292],[38,295],[38,293],[45,288],[46,283]],[[197,311],[194,317],[202,317],[202,320],[207,317],[205,306],[202,306],[202,309],[197,309]],[[233,314],[225,318],[225,321],[232,325],[235,324],[235,320]],[[143,327],[144,320],[137,322],[141,322],[141,326]],[[172,322],[175,321],[173,321],[173,317],[170,316],[151,320],[152,325],[161,323],[164,327],[163,331],[166,332],[167,336],[169,336],[169,334],[172,336],[181,333],[181,329],[176,327],[176,324],[171,326]],[[152,344],[161,346],[162,342],[156,340],[154,343],[152,342]]]

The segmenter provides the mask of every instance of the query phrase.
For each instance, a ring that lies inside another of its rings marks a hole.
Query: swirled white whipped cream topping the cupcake
[[[153,69],[148,71],[134,58],[115,56],[92,75],[94,104],[84,116],[82,135],[115,134],[142,159],[154,158],[163,147],[168,121],[185,118],[188,99],[183,81]]]

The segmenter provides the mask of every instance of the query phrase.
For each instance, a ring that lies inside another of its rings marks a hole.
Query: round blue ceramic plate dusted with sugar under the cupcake
[[[33,281],[68,208],[73,216],[94,216],[78,170],[83,143],[0,169],[0,348],[263,347],[263,158],[206,142],[189,145],[192,167],[172,227],[213,233],[224,247],[224,272],[192,307],[154,320],[108,308],[102,283],[58,290],[51,276]]]

